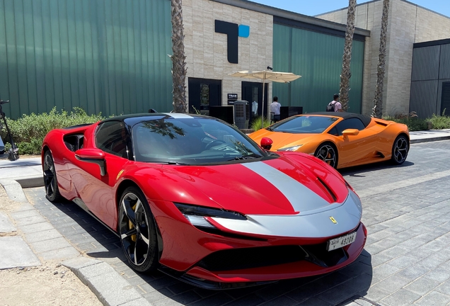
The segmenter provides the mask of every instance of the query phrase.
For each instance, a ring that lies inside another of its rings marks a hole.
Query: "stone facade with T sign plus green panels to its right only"
[[[260,115],[261,80],[229,75],[242,70],[272,67],[302,76],[289,84],[267,83],[265,110],[272,96],[278,96],[282,106],[324,111],[339,92],[345,25],[242,0],[183,1],[183,23],[190,112],[192,106],[226,106],[232,95],[257,101]],[[217,30],[217,23],[248,27],[248,36],[236,42],[236,62],[229,60],[230,38]],[[355,30],[350,109],[356,113],[361,112],[364,43],[369,35],[368,30]],[[202,92],[209,93],[209,101]]]

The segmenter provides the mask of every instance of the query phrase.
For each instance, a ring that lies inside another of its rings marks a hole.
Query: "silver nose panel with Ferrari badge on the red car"
[[[321,238],[349,232],[359,225],[362,205],[358,196],[349,190],[342,204],[308,215],[246,215],[247,220],[212,219],[233,232],[276,237]],[[333,217],[333,222],[330,217]]]

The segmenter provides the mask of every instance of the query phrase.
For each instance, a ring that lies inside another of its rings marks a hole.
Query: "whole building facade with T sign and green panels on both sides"
[[[183,0],[188,111],[257,101],[261,80],[240,70],[294,72],[289,84],[265,86],[264,108],[323,111],[339,91],[345,25],[245,0]],[[350,110],[359,113],[368,30],[355,31]],[[171,111],[170,0],[21,0],[0,6],[0,98],[23,114]]]

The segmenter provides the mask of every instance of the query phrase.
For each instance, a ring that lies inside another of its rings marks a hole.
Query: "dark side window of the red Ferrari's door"
[[[125,125],[120,121],[108,121],[98,126],[96,146],[110,154],[129,158],[131,142]]]

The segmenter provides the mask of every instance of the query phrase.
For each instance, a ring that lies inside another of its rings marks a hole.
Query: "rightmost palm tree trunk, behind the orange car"
[[[386,40],[388,33],[389,0],[383,0],[383,15],[381,16],[380,54],[376,72],[376,87],[372,117],[381,118],[383,115],[383,80],[386,63]]]

